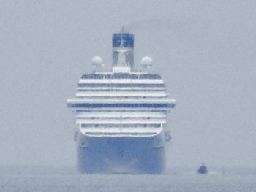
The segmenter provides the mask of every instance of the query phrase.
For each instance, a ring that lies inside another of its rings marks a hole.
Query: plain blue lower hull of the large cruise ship
[[[165,139],[83,137],[78,139],[78,171],[89,174],[162,174]]]

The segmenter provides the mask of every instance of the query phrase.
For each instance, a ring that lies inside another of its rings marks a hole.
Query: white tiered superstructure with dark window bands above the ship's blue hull
[[[176,104],[157,74],[142,72],[83,75],[75,99],[80,131],[95,137],[149,137],[167,128],[167,114]]]

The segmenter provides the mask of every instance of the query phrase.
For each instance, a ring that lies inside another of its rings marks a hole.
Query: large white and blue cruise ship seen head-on
[[[170,141],[170,110],[176,106],[152,59],[134,65],[134,35],[113,34],[112,69],[92,59],[93,72],[83,74],[76,96],[67,99],[75,111],[78,171],[88,174],[161,174]]]

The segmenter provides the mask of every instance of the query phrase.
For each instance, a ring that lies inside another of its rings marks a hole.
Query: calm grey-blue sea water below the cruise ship
[[[256,169],[229,168],[198,175],[172,169],[164,175],[86,175],[66,166],[0,166],[0,191],[256,191]]]

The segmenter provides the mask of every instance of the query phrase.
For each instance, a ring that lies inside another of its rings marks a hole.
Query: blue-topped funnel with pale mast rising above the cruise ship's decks
[[[134,68],[134,35],[129,34],[121,29],[119,33],[113,34],[112,37],[112,65],[113,67]]]

